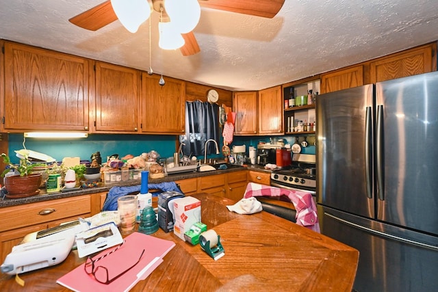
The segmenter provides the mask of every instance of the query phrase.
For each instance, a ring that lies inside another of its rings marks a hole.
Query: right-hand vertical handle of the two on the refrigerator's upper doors
[[[378,105],[376,117],[376,174],[379,200],[385,200],[385,195],[383,194],[383,147],[383,105]]]

